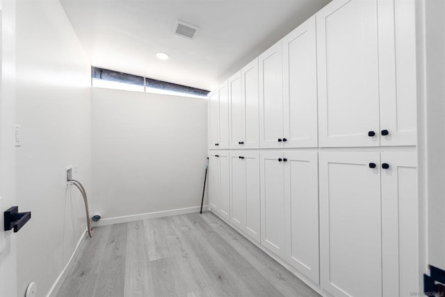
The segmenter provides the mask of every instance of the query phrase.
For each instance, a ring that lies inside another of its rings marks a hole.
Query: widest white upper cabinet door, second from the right
[[[316,23],[319,145],[379,145],[377,0],[332,1]]]

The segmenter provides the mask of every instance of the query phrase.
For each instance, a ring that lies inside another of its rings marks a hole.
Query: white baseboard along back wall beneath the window
[[[102,218],[97,223],[93,223],[93,226],[99,227],[99,226],[106,226],[106,225],[113,225],[113,224],[119,224],[119,223],[128,223],[128,222],[134,222],[135,220],[146,220],[147,218],[162,218],[164,216],[177,216],[179,214],[193,214],[195,212],[200,212],[201,207],[186,207],[181,209],[170,209],[165,211],[156,211],[156,212],[149,212],[146,214],[133,214],[131,216],[118,216],[115,218]],[[202,207],[202,211],[209,210],[209,205],[204,205]]]

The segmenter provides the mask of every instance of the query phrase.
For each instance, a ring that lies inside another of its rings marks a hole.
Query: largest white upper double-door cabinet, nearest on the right
[[[415,145],[414,1],[336,0],[316,17],[320,146]]]

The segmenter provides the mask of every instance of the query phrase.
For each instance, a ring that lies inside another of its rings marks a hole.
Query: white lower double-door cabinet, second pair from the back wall
[[[252,239],[260,241],[259,152],[236,150],[230,153],[230,222]]]

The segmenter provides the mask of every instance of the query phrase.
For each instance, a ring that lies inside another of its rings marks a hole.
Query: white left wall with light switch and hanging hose
[[[90,63],[57,0],[16,1],[17,205],[32,218],[17,236],[17,296],[29,282],[46,296],[86,230],[83,200],[65,166],[91,193]],[[8,295],[10,296],[10,295]]]

